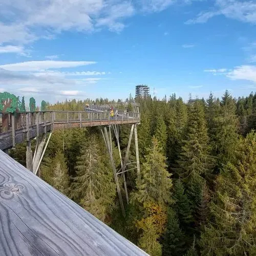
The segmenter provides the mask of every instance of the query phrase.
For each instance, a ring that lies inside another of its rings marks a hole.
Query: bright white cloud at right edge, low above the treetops
[[[228,72],[227,77],[232,80],[248,80],[256,82],[256,66],[243,65]]]

